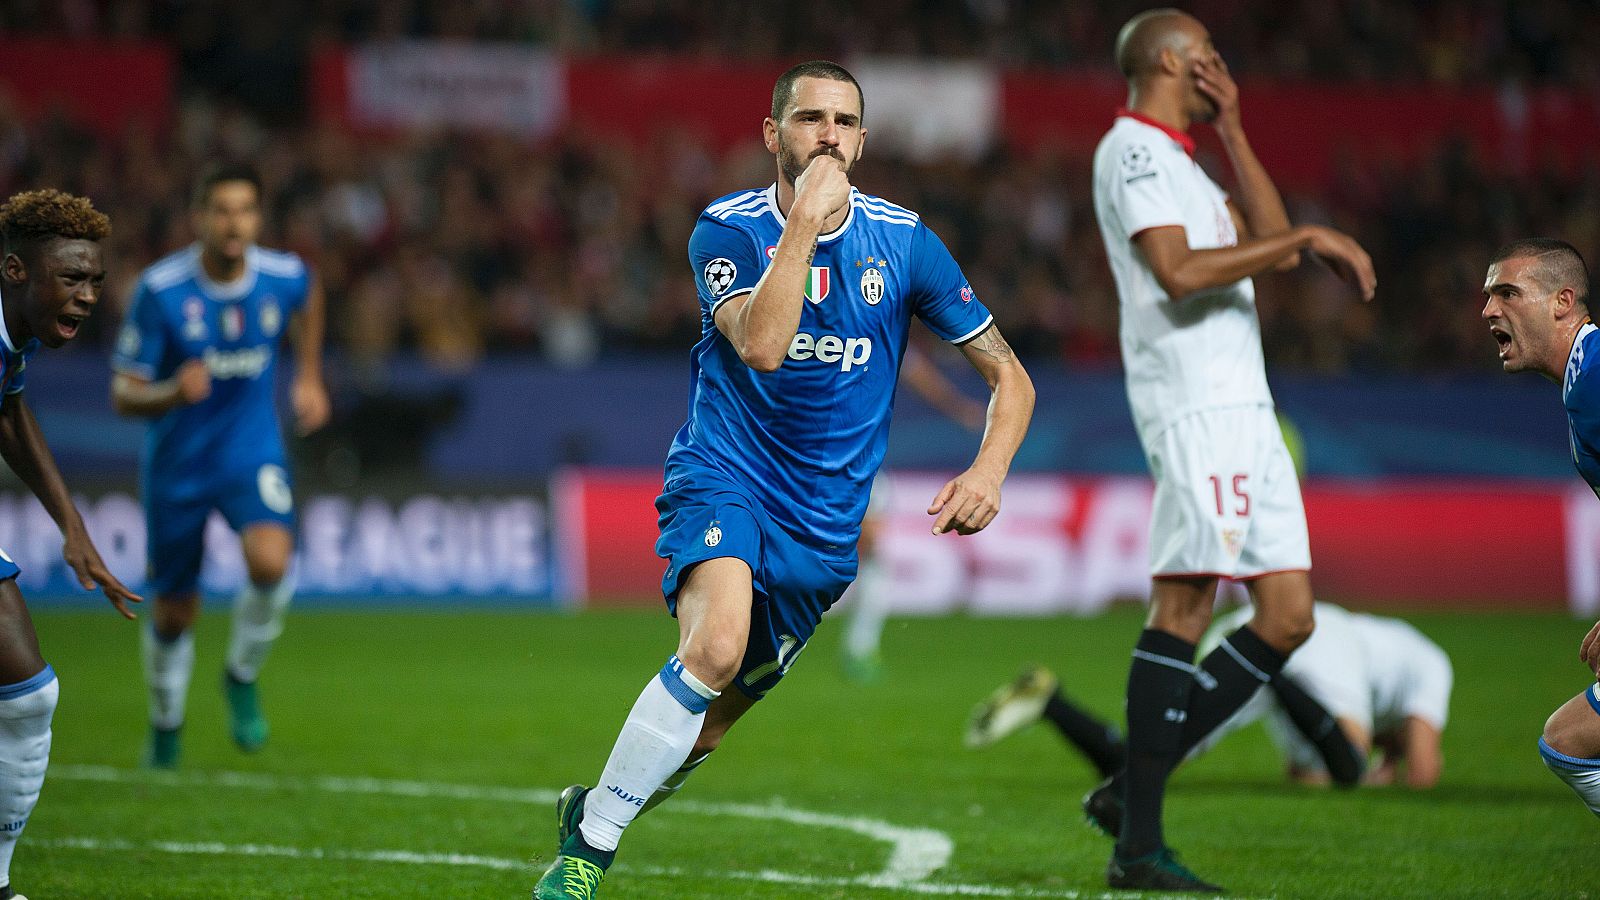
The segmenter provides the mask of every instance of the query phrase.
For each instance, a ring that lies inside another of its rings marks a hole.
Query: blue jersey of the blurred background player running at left
[[[245,274],[219,285],[192,245],[144,271],[112,367],[150,381],[171,378],[189,359],[211,372],[211,396],[150,424],[146,484],[179,495],[216,479],[283,464],[274,404],[277,348],[285,323],[306,303],[310,275],[294,253],[251,247]]]

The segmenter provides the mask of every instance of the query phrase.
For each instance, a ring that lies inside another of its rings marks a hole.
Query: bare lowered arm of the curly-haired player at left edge
[[[34,492],[38,503],[56,520],[66,541],[61,554],[77,573],[78,585],[83,585],[86,591],[99,586],[117,612],[134,618],[128,604],[138,604],[142,597],[123,586],[101,560],[99,551],[94,549],[94,541],[90,540],[90,532],[83,525],[83,517],[78,516],[78,508],[72,503],[72,495],[61,479],[56,458],[50,453],[45,436],[38,429],[38,420],[27,408],[21,392],[6,394],[5,402],[0,402],[0,458],[5,458],[11,471],[22,479],[22,484]]]

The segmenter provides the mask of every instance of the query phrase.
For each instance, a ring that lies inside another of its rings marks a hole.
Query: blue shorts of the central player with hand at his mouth
[[[739,485],[706,468],[677,468],[656,498],[656,556],[667,560],[661,596],[672,615],[683,577],[696,564],[734,557],[750,567],[750,637],[734,684],[760,700],[789,673],[822,613],[856,578],[854,548],[843,557],[819,554],[779,528]]]

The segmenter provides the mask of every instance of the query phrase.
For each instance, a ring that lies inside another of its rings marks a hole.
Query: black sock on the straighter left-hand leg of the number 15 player
[[[1128,668],[1128,767],[1123,773],[1122,838],[1117,855],[1131,860],[1160,850],[1162,796],[1182,757],[1184,709],[1194,687],[1195,645],[1146,628]]]

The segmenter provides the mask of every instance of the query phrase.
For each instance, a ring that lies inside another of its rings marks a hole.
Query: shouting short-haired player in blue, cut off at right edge
[[[1573,463],[1600,495],[1600,328],[1589,317],[1584,258],[1563,240],[1517,240],[1490,261],[1483,298],[1501,368],[1538,372],[1562,386]],[[1600,625],[1578,655],[1600,679]],[[1550,714],[1539,756],[1600,815],[1600,681]]]

